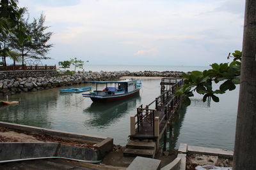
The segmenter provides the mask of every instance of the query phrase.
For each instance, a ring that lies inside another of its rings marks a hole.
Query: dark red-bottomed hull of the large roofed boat
[[[104,96],[104,97],[97,97],[93,96],[90,97],[93,102],[101,103],[101,102],[110,102],[110,101],[117,101],[120,99],[125,99],[130,96],[135,96],[136,94],[140,93],[140,89],[134,90],[134,92],[130,92],[129,94],[122,94],[122,95],[114,95],[114,96]]]

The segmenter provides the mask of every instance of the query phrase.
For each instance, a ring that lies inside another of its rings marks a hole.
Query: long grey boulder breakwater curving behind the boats
[[[38,90],[51,89],[55,87],[65,87],[84,83],[85,81],[107,81],[117,80],[122,76],[149,76],[149,77],[181,77],[180,71],[113,71],[113,72],[92,72],[76,73],[74,75],[63,75],[52,77],[29,77],[12,78],[0,80],[0,96],[13,95],[20,92],[36,92]]]

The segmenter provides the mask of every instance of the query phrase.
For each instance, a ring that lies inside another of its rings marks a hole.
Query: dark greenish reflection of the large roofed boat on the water
[[[92,103],[91,106],[84,110],[84,114],[90,116],[84,122],[84,126],[106,127],[115,123],[118,118],[125,115],[136,108],[137,103],[140,103],[140,95],[132,96],[121,101],[110,103]]]

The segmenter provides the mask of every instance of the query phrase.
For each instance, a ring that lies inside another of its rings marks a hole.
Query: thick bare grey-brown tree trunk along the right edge
[[[256,169],[256,1],[246,0],[234,170]]]

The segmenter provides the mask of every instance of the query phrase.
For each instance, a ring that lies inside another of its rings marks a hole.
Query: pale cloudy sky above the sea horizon
[[[241,0],[20,0],[45,15],[54,46],[44,64],[209,66],[242,50]]]

